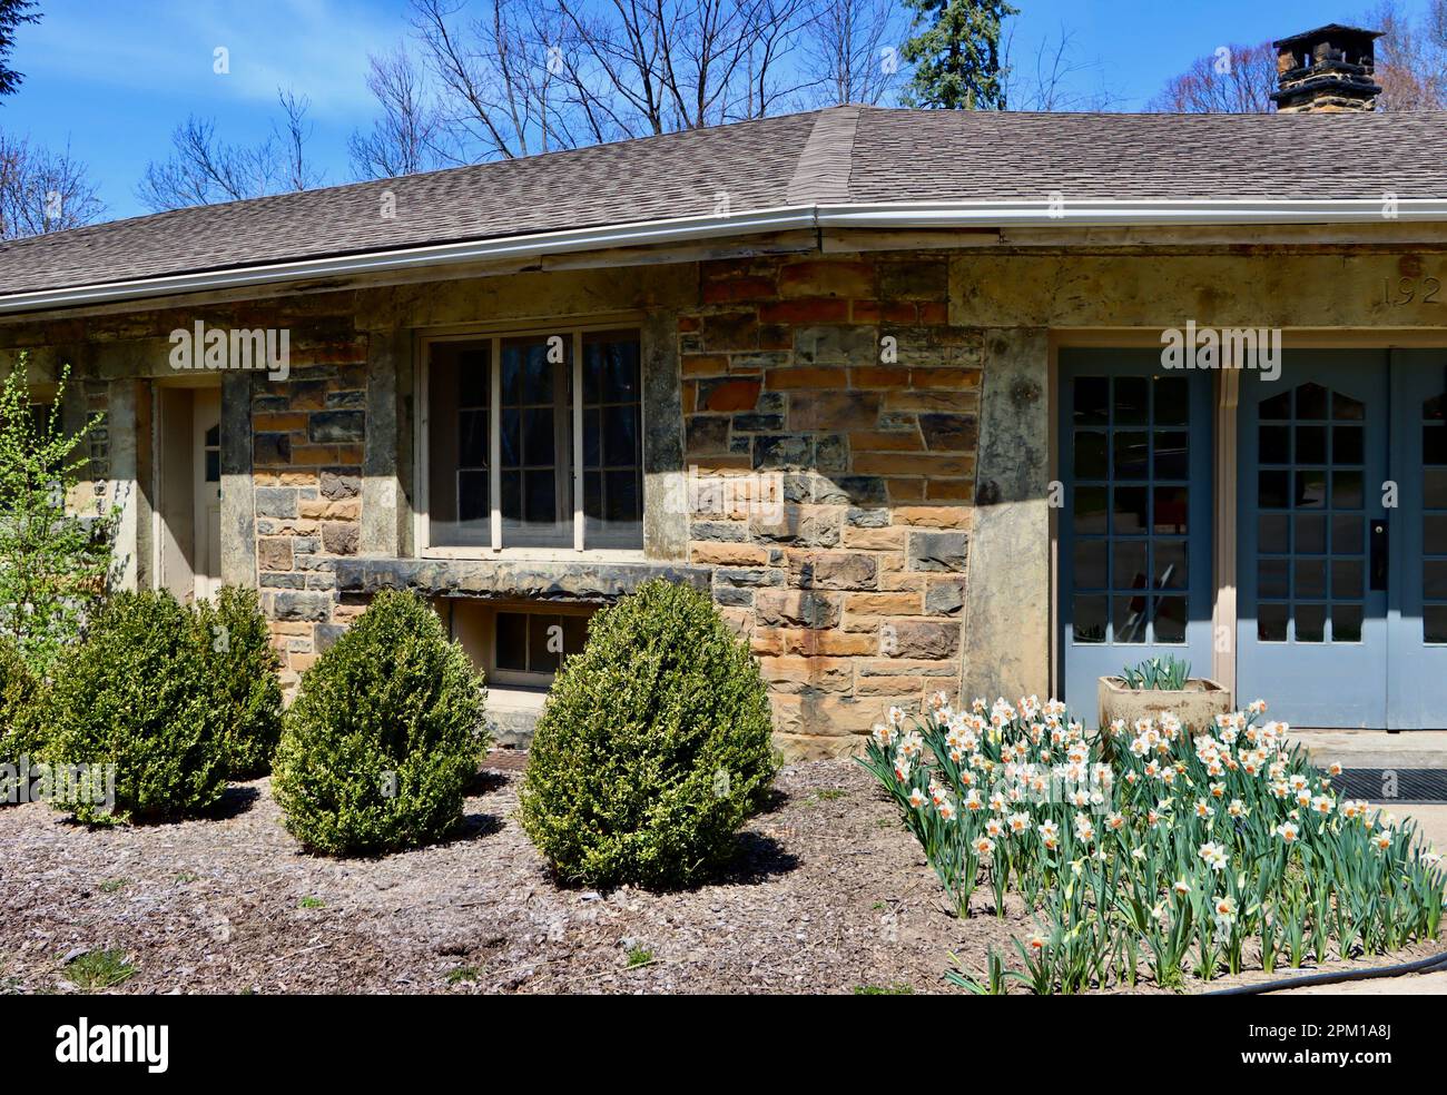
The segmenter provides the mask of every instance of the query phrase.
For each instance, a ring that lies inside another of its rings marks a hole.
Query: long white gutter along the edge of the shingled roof
[[[667,220],[570,229],[525,236],[441,243],[424,247],[368,252],[327,259],[302,259],[164,278],[98,282],[64,289],[0,295],[0,314],[42,311],[109,301],[169,297],[247,285],[346,278],[385,270],[449,266],[518,256],[563,255],[690,243],[800,229],[998,229],[998,227],[1168,227],[1223,224],[1369,224],[1447,221],[1447,200],[1375,198],[1321,200],[1192,200],[1192,201],[961,201],[891,203],[875,205],[789,205],[728,217]],[[3,279],[0,269],[0,279]]]

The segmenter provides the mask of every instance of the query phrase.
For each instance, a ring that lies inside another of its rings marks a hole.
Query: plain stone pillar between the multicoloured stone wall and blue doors
[[[1051,689],[1051,356],[1042,328],[985,333],[965,583],[964,694]]]

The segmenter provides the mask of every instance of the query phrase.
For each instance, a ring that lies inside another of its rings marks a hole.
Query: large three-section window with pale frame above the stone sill
[[[642,548],[642,362],[621,325],[423,343],[420,547]]]

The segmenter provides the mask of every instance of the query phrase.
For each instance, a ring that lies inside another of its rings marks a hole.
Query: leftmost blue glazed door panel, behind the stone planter
[[[1211,395],[1159,350],[1061,354],[1065,702],[1095,723],[1097,681],[1163,654],[1211,668]]]

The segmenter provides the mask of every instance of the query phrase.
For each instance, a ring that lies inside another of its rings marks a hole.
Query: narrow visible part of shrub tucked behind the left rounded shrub
[[[279,658],[256,592],[226,586],[197,606],[197,628],[221,712],[229,772],[252,780],[271,771],[281,741]]]

